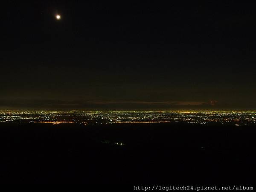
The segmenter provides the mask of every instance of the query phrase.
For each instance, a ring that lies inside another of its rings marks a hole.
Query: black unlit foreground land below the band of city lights
[[[181,123],[0,124],[0,182],[253,184],[255,134]]]

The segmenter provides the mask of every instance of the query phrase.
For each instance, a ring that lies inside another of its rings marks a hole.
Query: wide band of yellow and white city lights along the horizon
[[[256,111],[0,111],[0,122],[256,124]]]

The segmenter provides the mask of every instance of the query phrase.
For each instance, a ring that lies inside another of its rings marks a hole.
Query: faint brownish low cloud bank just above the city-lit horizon
[[[212,107],[210,102],[195,101],[63,101],[63,100],[0,100],[0,109],[32,110],[171,110]]]

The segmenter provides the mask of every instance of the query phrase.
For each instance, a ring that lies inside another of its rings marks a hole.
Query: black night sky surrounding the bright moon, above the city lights
[[[256,109],[255,5],[93,2],[1,5],[0,109]]]

